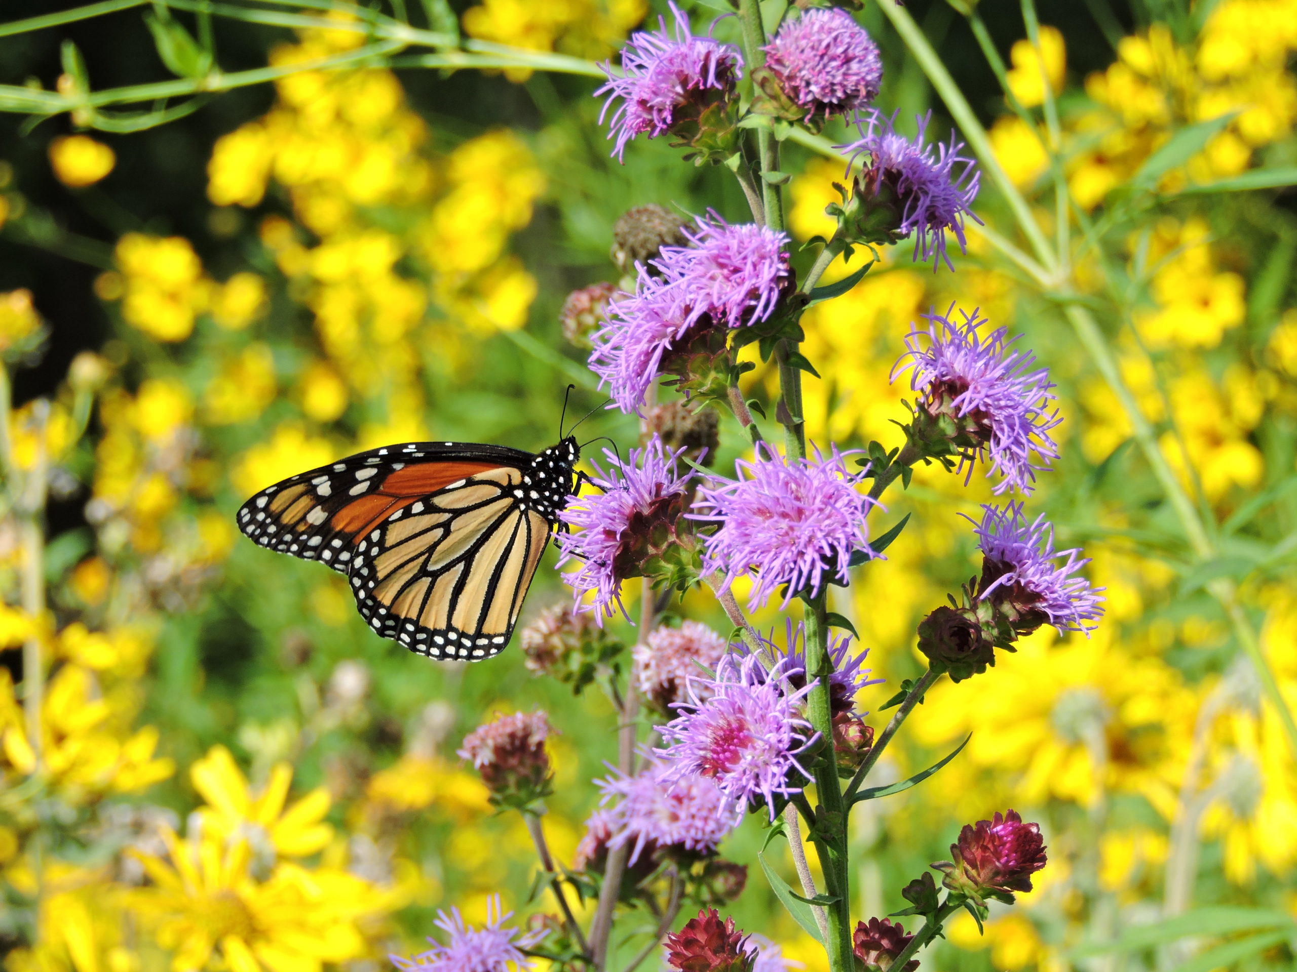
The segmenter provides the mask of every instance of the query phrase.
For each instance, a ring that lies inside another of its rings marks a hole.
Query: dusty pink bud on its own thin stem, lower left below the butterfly
[[[493,805],[523,809],[551,792],[554,774],[545,752],[549,735],[543,712],[498,715],[470,732],[458,756],[472,761]]]

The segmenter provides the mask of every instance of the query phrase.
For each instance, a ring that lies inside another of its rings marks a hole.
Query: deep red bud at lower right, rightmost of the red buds
[[[933,864],[946,874],[942,884],[978,905],[984,898],[1012,905],[1014,892],[1031,890],[1031,875],[1047,859],[1040,826],[1023,823],[1016,810],[965,824],[958,842],[951,845],[951,857],[953,862]]]

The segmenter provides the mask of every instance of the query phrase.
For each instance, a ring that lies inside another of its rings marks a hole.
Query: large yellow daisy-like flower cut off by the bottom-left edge
[[[362,923],[397,903],[337,867],[280,862],[259,880],[244,839],[182,841],[170,828],[162,839],[166,858],[131,851],[153,883],[131,902],[174,953],[175,972],[320,972],[326,962],[363,958]]]

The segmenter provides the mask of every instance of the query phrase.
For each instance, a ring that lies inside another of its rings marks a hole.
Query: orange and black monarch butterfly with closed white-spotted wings
[[[261,544],[346,574],[361,614],[429,658],[505,649],[581,447],[407,442],[267,486],[239,509]]]

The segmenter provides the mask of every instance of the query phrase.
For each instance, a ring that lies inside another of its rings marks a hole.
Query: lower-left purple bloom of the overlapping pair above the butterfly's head
[[[613,298],[607,323],[591,336],[590,371],[623,412],[639,412],[663,356],[699,324],[682,298],[680,286],[641,266],[634,294]]]

